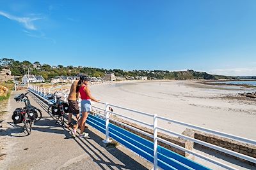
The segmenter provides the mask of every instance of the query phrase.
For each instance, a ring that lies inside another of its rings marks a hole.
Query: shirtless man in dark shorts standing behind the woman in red
[[[77,83],[79,80],[75,80],[71,87],[70,92],[68,94],[68,128],[73,127],[72,124],[72,114],[76,116],[77,121],[79,120],[79,106],[77,103],[77,99],[79,98],[79,93],[76,92]]]

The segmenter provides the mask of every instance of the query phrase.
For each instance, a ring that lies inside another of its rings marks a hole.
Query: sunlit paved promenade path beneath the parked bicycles
[[[43,118],[26,136],[22,124],[12,124],[12,112],[24,103],[13,97],[24,91],[13,92],[8,104],[9,113],[0,129],[0,169],[151,169],[152,164],[124,146],[106,147],[104,135],[89,127],[89,138],[72,139],[69,130],[55,124],[46,113],[47,105],[30,94],[31,104],[43,110]]]

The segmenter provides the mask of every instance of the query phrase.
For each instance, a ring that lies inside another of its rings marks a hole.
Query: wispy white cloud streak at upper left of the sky
[[[6,17],[10,20],[15,20],[17,22],[19,22],[20,24],[24,25],[24,27],[26,29],[30,29],[30,30],[37,30],[35,25],[33,24],[33,22],[35,20],[40,20],[42,18],[31,18],[31,17],[16,17],[16,16],[13,16],[13,15],[10,15],[8,13],[5,13],[3,11],[0,11],[0,15],[2,15],[3,17]]]

